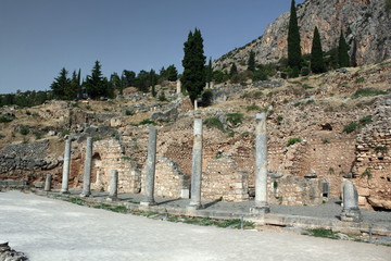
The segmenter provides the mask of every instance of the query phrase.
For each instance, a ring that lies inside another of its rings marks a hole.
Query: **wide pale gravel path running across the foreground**
[[[17,191],[0,192],[0,240],[33,261],[391,260],[390,247],[169,223]]]

